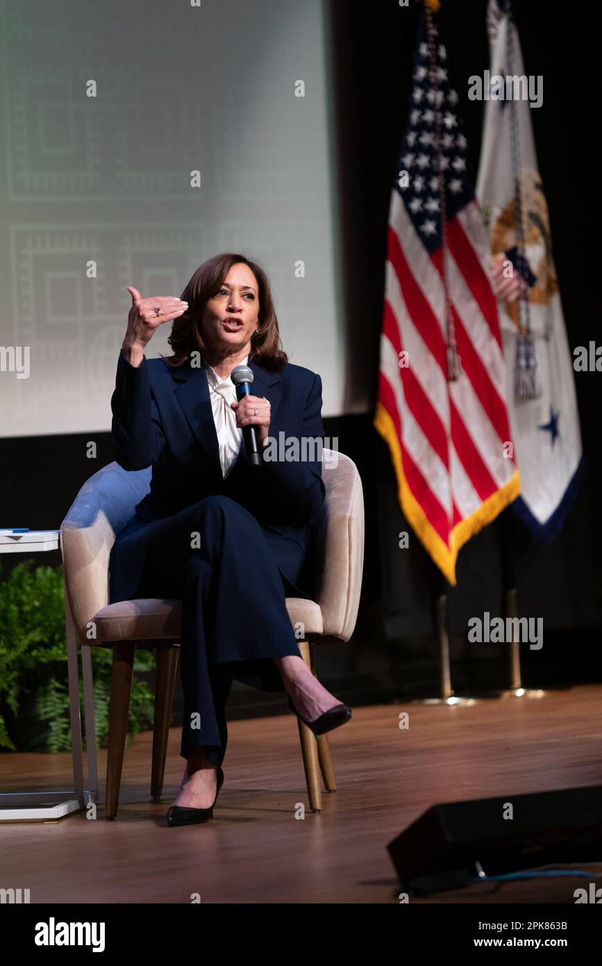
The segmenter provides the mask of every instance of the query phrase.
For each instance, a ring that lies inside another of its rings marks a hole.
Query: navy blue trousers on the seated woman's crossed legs
[[[284,691],[273,659],[300,656],[287,579],[258,521],[231,497],[205,497],[153,526],[139,596],[182,601],[180,753],[203,745],[220,765],[233,680]]]

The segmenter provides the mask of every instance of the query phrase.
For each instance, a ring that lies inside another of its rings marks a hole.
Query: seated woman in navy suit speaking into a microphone
[[[286,690],[315,734],[351,716],[305,665],[286,608],[287,596],[313,589],[321,380],[287,361],[268,279],[242,255],[208,259],[181,299],[128,291],[113,438],[120,466],[151,466],[152,478],[111,552],[111,600],[182,600],[186,768],[167,820],[192,824],[212,816],[224,780],[233,679]],[[169,321],[174,355],[147,359],[153,333]],[[254,379],[238,402],[230,375],[240,364]],[[256,428],[259,466],[246,458],[246,426]]]

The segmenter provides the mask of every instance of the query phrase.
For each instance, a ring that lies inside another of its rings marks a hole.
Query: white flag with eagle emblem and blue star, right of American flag
[[[529,83],[510,5],[490,0],[488,81],[477,197],[506,355],[506,398],[521,497],[539,536],[560,528],[581,464],[573,365],[554,268],[550,219],[535,154]],[[506,80],[508,78],[508,80]],[[531,78],[531,94],[535,93]],[[541,92],[537,92],[541,97]],[[504,268],[505,267],[505,268]]]

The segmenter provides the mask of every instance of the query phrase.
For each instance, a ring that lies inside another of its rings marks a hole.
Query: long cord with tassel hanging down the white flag
[[[508,73],[513,74],[513,46],[512,46],[512,13],[508,4],[506,20],[506,61]],[[514,223],[516,227],[516,249],[518,251],[518,271],[523,280],[518,295],[519,331],[516,340],[516,368],[514,380],[514,394],[517,399],[536,399],[539,395],[537,387],[537,362],[531,330],[531,313],[529,306],[529,286],[527,284],[526,267],[527,255],[525,250],[525,224],[523,221],[523,195],[520,183],[521,160],[518,141],[518,119],[516,116],[516,101],[510,99],[510,146],[512,152],[512,174],[514,175]]]

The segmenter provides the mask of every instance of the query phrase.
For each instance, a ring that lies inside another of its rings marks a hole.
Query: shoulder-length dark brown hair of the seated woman
[[[247,265],[251,269],[259,287],[259,331],[252,336],[249,361],[253,359],[270,372],[280,372],[285,367],[288,356],[281,348],[278,319],[267,274],[257,262],[232,251],[208,258],[195,271],[182,292],[180,298],[188,302],[188,308],[172,325],[168,342],[174,355],[165,359],[169,365],[182,365],[190,358],[191,353],[205,352],[201,332],[205,305],[209,298],[217,295],[233,265],[239,264]]]

